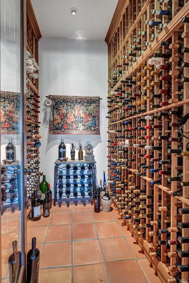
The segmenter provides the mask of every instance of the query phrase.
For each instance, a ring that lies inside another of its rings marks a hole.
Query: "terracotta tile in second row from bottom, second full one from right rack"
[[[73,242],[73,265],[101,262],[103,258],[98,240]]]

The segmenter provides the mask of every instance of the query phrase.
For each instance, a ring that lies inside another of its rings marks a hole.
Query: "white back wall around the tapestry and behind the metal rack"
[[[61,138],[70,158],[70,146],[91,143],[97,162],[97,182],[107,172],[107,45],[104,41],[41,38],[39,41],[40,115],[43,121],[45,96],[100,96],[100,135],[52,135],[49,122],[41,123],[40,171],[54,187],[54,162],[58,158]],[[102,179],[103,180],[103,179]]]

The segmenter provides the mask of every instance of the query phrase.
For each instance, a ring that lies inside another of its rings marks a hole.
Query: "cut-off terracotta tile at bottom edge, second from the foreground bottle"
[[[74,266],[74,283],[108,283],[104,264]]]

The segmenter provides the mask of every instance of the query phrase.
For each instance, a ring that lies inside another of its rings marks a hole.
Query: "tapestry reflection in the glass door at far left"
[[[20,133],[20,93],[1,91],[1,134]]]

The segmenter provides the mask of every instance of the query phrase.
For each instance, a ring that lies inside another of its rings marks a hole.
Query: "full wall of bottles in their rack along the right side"
[[[129,2],[107,39],[109,190],[163,282],[189,278],[188,8]]]

